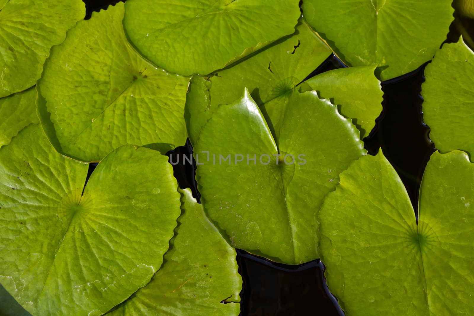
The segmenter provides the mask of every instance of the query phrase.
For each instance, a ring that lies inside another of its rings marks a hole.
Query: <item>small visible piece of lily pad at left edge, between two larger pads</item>
[[[0,148],[24,127],[38,123],[35,100],[34,87],[0,99]]]

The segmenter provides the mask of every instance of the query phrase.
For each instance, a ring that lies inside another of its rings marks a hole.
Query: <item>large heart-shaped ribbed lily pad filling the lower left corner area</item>
[[[173,237],[180,202],[166,156],[122,146],[82,194],[87,171],[39,125],[0,149],[0,283],[33,315],[102,315],[148,283]]]

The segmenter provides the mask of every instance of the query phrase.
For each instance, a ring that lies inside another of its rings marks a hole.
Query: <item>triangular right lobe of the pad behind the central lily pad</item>
[[[361,139],[369,135],[382,112],[383,91],[374,76],[375,67],[341,68],[305,81],[305,85],[317,90],[321,98],[329,98],[337,104],[339,113],[352,119]]]

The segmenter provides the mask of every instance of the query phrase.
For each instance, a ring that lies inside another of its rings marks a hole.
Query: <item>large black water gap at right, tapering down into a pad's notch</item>
[[[365,149],[382,152],[403,181],[418,218],[418,193],[429,156],[435,151],[429,127],[423,123],[421,84],[426,63],[401,77],[383,81],[383,110],[365,137]]]

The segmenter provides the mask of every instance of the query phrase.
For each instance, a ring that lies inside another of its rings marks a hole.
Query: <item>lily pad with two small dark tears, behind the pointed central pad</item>
[[[328,46],[301,18],[292,36],[277,41],[210,78],[194,76],[186,99],[185,114],[191,142],[195,143],[201,126],[218,105],[229,99],[237,99],[245,87],[264,116],[273,120],[268,117],[270,111],[282,112],[286,108],[285,99],[279,97],[291,93],[295,85],[303,81],[330,53]],[[310,85],[304,84],[303,90],[323,91],[324,98],[336,97],[337,104],[342,104],[339,106],[341,113],[351,117],[360,127],[363,133],[361,138],[374,127],[375,118],[382,109],[382,91],[380,82],[374,77],[374,66],[328,72],[307,82]],[[279,100],[272,101],[275,99]],[[267,113],[266,108],[273,109]]]

